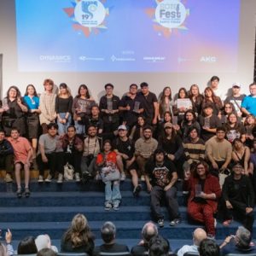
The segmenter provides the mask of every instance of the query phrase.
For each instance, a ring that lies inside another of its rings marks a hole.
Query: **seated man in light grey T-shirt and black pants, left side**
[[[49,123],[47,131],[47,133],[39,137],[39,154],[37,156],[39,169],[38,183],[44,182],[44,169],[46,168],[49,168],[49,175],[46,177],[45,182],[50,183],[57,171],[59,172],[57,182],[62,183],[65,158],[61,139],[57,135],[58,125]]]

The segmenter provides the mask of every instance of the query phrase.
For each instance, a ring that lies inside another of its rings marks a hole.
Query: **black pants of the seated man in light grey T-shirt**
[[[53,152],[51,154],[45,154],[48,162],[44,163],[42,160],[42,155],[38,154],[37,163],[39,169],[39,175],[44,176],[44,170],[49,168],[49,174],[54,177],[55,172],[64,172],[63,166],[65,165],[65,154],[63,152]]]

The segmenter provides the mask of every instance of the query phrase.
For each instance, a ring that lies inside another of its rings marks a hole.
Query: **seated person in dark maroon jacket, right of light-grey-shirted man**
[[[80,182],[84,144],[76,134],[76,127],[74,125],[67,127],[67,133],[62,137],[62,148],[65,161],[74,168],[76,182]]]

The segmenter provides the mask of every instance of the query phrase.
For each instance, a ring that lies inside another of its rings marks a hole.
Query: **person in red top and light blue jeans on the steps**
[[[114,211],[118,211],[122,196],[119,189],[120,173],[116,166],[117,154],[112,150],[109,140],[103,143],[102,149],[102,153],[97,155],[96,166],[105,183],[105,210],[109,211],[113,207]]]

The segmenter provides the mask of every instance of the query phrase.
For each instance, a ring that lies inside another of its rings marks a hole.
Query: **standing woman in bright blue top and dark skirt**
[[[39,128],[39,97],[37,90],[33,84],[26,86],[26,93],[24,96],[24,102],[26,102],[27,113],[26,113],[26,131],[27,137],[32,141],[32,159],[34,160],[37,156],[38,149],[38,128]]]

